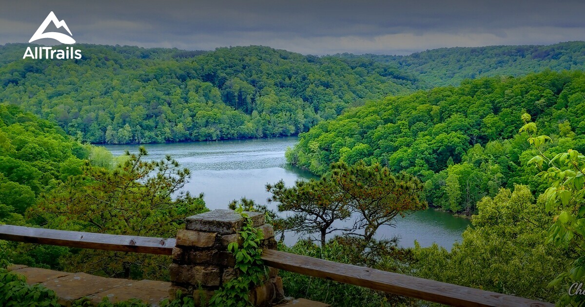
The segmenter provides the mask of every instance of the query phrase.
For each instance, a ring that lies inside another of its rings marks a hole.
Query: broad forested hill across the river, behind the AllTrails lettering
[[[76,45],[81,60],[20,60],[0,48],[0,101],[56,121],[91,143],[289,136],[348,105],[404,94],[392,64],[269,47],[211,52]]]

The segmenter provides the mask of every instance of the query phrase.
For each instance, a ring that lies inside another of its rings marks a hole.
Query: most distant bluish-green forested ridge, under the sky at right
[[[546,69],[583,70],[585,42],[524,46],[454,47],[427,50],[408,56],[339,54],[392,63],[415,74],[427,86],[459,85],[465,79],[496,75],[526,75]]]

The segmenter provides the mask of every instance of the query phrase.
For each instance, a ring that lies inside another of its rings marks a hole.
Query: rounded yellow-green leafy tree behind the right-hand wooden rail
[[[570,251],[546,244],[552,223],[540,197],[525,185],[500,189],[477,203],[473,227],[449,252],[437,244],[412,250],[411,274],[450,284],[554,302],[566,292],[548,283],[570,266]],[[567,257],[568,256],[568,257]]]

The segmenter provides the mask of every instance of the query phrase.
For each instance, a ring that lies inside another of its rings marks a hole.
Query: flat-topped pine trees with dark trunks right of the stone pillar
[[[418,178],[391,174],[387,167],[363,161],[348,166],[344,162],[331,166],[331,172],[320,180],[297,181],[287,188],[283,181],[266,185],[272,194],[270,202],[278,202],[278,211],[293,212],[284,222],[297,233],[326,235],[338,230],[361,236],[365,249],[382,225],[391,225],[397,215],[426,208],[421,199],[423,185]],[[354,218],[353,227],[337,229],[335,222]],[[356,233],[363,230],[362,233]]]

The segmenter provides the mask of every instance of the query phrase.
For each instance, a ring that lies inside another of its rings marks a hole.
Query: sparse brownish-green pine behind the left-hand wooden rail
[[[137,154],[127,152],[115,170],[86,164],[81,175],[47,193],[30,215],[43,218],[51,229],[174,237],[186,216],[208,209],[202,195],[183,190],[189,170],[170,156],[145,161],[146,156],[143,147]],[[164,256],[97,250],[76,250],[61,259],[68,271],[161,280],[168,278],[169,261]]]

